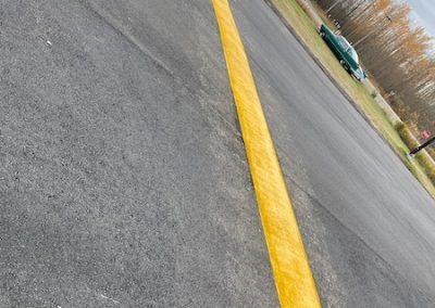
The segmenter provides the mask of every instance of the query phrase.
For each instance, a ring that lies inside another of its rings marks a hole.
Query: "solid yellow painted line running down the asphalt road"
[[[282,307],[321,307],[287,187],[227,0],[212,0]]]

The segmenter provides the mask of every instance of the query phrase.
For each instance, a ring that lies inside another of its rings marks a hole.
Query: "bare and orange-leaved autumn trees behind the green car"
[[[341,34],[353,44],[369,75],[393,107],[401,110],[403,120],[433,130],[434,44],[424,28],[411,22],[411,8],[396,0],[316,2],[339,23]]]

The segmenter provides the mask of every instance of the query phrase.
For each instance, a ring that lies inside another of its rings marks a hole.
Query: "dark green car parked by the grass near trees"
[[[325,24],[320,27],[319,33],[341,66],[359,81],[365,79],[365,73],[360,66],[355,48],[343,36],[334,34]]]

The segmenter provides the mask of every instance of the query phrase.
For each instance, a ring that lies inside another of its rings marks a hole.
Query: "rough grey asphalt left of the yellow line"
[[[0,307],[276,307],[211,3],[0,24]]]

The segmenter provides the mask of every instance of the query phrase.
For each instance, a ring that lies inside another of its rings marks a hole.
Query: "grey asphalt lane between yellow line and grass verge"
[[[263,0],[233,8],[324,307],[434,307],[435,202]]]

